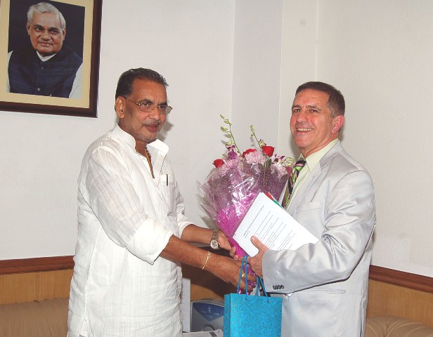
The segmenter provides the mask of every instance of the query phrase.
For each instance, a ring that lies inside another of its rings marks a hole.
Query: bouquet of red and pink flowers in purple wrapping
[[[226,153],[214,161],[205,183],[198,184],[200,194],[207,201],[202,205],[207,215],[216,221],[219,229],[226,234],[231,246],[236,246],[238,256],[246,253],[233,239],[233,234],[244,218],[259,192],[269,192],[280,197],[295,161],[292,158],[274,154],[274,147],[258,140],[254,128],[250,126],[251,136],[258,149],[251,148],[240,152],[231,132],[231,122],[220,115],[228,128],[221,130],[229,138]]]

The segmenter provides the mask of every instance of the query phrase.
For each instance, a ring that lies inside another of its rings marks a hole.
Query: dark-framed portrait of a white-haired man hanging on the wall
[[[0,110],[97,117],[102,0],[0,0]]]

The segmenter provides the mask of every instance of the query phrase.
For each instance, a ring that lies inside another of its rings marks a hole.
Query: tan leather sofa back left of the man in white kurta
[[[65,337],[68,298],[0,305],[0,337]]]

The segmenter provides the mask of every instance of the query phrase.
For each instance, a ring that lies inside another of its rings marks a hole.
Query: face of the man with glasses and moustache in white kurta
[[[132,92],[127,97],[116,98],[115,109],[119,117],[119,126],[136,140],[136,150],[143,155],[148,143],[156,140],[165,114],[160,114],[157,107],[151,112],[142,112],[134,102],[148,102],[153,105],[167,105],[167,92],[162,84],[144,79],[134,79]],[[143,153],[142,153],[143,152]]]

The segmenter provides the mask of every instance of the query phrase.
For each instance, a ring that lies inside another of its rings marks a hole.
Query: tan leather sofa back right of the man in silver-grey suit
[[[433,337],[433,328],[402,317],[369,317],[366,337]]]

